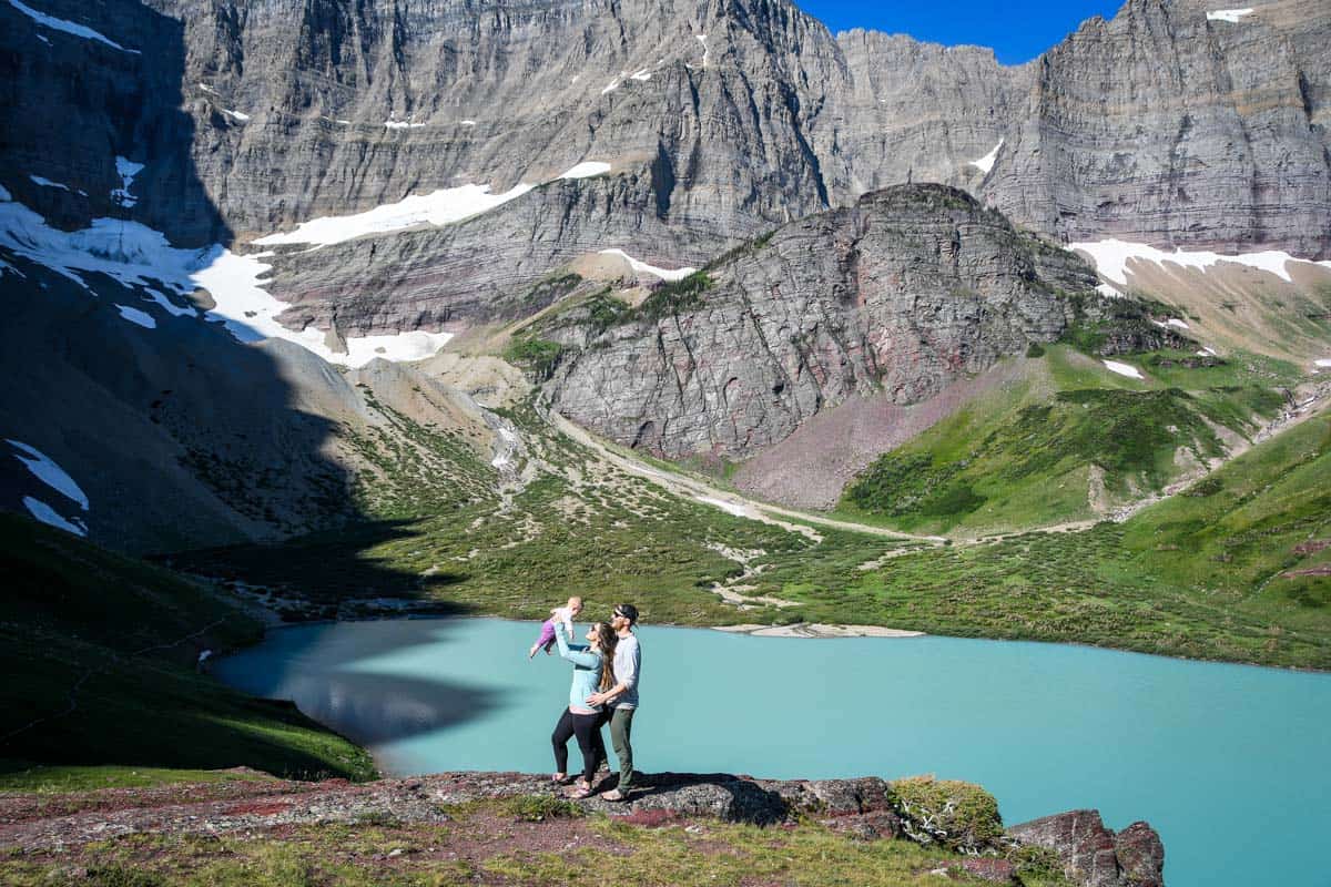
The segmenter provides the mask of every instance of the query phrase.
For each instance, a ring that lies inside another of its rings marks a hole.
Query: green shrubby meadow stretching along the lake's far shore
[[[1090,371],[1073,359],[1067,363],[1066,370],[1054,363],[1050,374],[1075,376]],[[1223,367],[1211,371],[1233,372]],[[1073,390],[1087,387],[1075,383]],[[1194,395],[1194,400],[1167,396],[1193,410],[1202,395]],[[984,414],[973,415],[976,423],[990,422]],[[604,612],[620,598],[634,600],[654,624],[878,624],[938,634],[1085,642],[1171,656],[1331,668],[1331,617],[1318,604],[1319,596],[1304,588],[1324,577],[1290,580],[1288,585],[1268,581],[1276,568],[1303,568],[1326,557],[1323,552],[1288,560],[1299,533],[1331,537],[1331,531],[1318,523],[1331,513],[1324,501],[1327,484],[1318,480],[1326,465],[1310,461],[1299,467],[1299,460],[1308,457],[1307,448],[1320,440],[1316,430],[1326,428],[1324,418],[1255,447],[1209,479],[1236,491],[1238,481],[1230,479],[1251,473],[1243,481],[1251,495],[1242,505],[1240,492],[1233,497],[1179,497],[1127,524],[1099,524],[1075,533],[1029,532],[946,547],[825,527],[817,529],[820,539],[811,540],[680,499],[626,475],[555,434],[528,408],[510,414],[510,419],[520,428],[531,457],[539,455],[540,467],[500,512],[478,504],[425,513],[391,532],[371,527],[362,536],[310,537],[178,560],[194,569],[306,596],[321,608],[330,596],[394,588],[402,596],[461,605],[478,614],[536,618],[551,601],[579,593],[592,613]],[[1296,439],[1304,444],[1292,444]],[[1280,477],[1286,480],[1276,483]],[[1286,487],[1288,496],[1280,492]],[[1030,491],[1036,489],[1033,484]],[[1303,499],[1295,500],[1299,489]],[[1085,501],[1085,487],[1078,496]],[[1030,508],[1040,504],[1028,503]],[[1158,516],[1181,503],[1215,508],[1205,520],[1221,527],[1233,524],[1231,536],[1225,536],[1230,541],[1217,537],[1199,545],[1191,537],[1186,544],[1173,536],[1157,540],[1147,521],[1178,523]],[[1234,540],[1244,539],[1254,528],[1266,533],[1267,525],[1260,521],[1275,521],[1276,515],[1298,509],[1302,517],[1295,516],[1288,532],[1260,535],[1250,549],[1235,548],[1238,553],[1252,552],[1251,568],[1240,569],[1238,557],[1203,564],[1213,556],[1207,545],[1217,553],[1226,547],[1229,551]],[[1170,544],[1181,551],[1169,551]],[[1157,552],[1158,545],[1165,548]],[[748,559],[743,578],[737,577],[745,568],[733,557],[736,553]],[[355,578],[362,572],[369,573],[365,581]],[[374,573],[390,578],[374,582]],[[1201,578],[1203,573],[1233,574],[1233,581],[1225,585],[1227,590],[1215,593]],[[715,582],[736,580],[751,597],[775,597],[795,605],[755,601],[751,609],[736,609],[712,590]],[[1282,596],[1278,589],[1295,590]],[[1266,602],[1246,604],[1248,598]]]

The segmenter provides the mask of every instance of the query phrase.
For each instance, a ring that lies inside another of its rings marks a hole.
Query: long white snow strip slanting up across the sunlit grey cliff
[[[503,194],[491,194],[488,185],[462,185],[445,188],[431,194],[407,197],[397,203],[385,203],[354,215],[325,215],[301,222],[294,231],[261,237],[260,246],[286,243],[313,243],[329,246],[366,234],[383,234],[413,225],[449,225],[479,215],[530,191],[532,185],[516,185]]]

